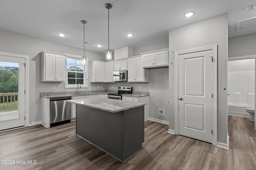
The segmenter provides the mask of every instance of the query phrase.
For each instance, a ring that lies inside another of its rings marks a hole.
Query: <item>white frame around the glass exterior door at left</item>
[[[25,59],[25,127],[29,126],[29,56],[5,52],[0,52],[0,55]]]

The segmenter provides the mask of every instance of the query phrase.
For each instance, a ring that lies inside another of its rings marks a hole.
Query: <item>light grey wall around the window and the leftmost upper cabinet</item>
[[[29,122],[41,120],[41,98],[40,92],[63,92],[74,91],[75,89],[64,88],[64,82],[41,82],[41,55],[42,50],[52,51],[56,53],[69,53],[74,55],[83,55],[83,49],[70,47],[50,41],[36,39],[25,35],[20,35],[8,31],[0,30],[0,51],[6,53],[15,53],[21,55],[28,55],[30,58],[30,96],[29,96]],[[105,61],[105,55],[86,51],[89,60]],[[97,89],[97,86],[100,89]],[[56,90],[52,89],[56,86]],[[89,83],[89,88],[83,90],[102,90],[103,84]]]

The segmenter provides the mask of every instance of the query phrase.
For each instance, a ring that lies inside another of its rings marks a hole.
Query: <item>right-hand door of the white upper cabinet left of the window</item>
[[[56,55],[55,57],[55,80],[64,81],[65,80],[65,56]]]

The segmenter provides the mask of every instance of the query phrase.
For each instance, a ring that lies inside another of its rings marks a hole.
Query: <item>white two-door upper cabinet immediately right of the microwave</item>
[[[142,57],[127,59],[128,82],[148,82],[149,70],[142,68]]]

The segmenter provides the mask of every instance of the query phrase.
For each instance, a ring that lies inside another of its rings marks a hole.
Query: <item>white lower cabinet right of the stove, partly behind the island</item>
[[[144,121],[149,120],[149,96],[143,96],[139,98],[122,96],[122,100],[146,103],[144,106]]]

